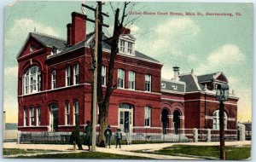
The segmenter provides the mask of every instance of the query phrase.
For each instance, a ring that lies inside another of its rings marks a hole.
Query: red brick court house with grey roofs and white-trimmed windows
[[[29,33],[17,55],[18,130],[70,131],[90,120],[92,72],[90,44],[94,33],[86,33],[86,17],[72,14],[67,41],[45,34]],[[85,39],[84,39],[85,38]],[[103,39],[106,39],[103,36]],[[130,31],[119,38],[114,67],[108,124],[125,132],[147,129],[173,133],[177,129],[218,130],[216,84],[228,84],[223,72],[196,76],[193,72],[162,79],[162,64],[135,50]],[[110,46],[103,44],[102,86],[108,78]],[[225,129],[236,130],[237,101],[225,101]]]

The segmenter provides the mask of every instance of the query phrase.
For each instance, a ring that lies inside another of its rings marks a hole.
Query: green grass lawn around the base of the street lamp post
[[[172,147],[163,148],[154,152],[143,152],[140,153],[154,153],[154,154],[165,154],[165,155],[194,155],[201,156],[203,158],[216,158],[219,159],[219,147],[218,146],[191,146],[191,145],[173,145]],[[228,160],[241,160],[248,159],[251,157],[251,146],[230,146],[225,147],[226,159]]]

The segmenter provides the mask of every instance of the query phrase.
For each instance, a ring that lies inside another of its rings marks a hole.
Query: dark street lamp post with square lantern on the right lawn
[[[229,85],[218,84],[216,98],[219,101],[219,142],[220,142],[220,159],[225,159],[224,144],[224,101],[229,98]]]

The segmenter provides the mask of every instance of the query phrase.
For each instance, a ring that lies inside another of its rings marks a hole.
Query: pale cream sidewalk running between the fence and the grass
[[[96,148],[97,152],[102,153],[116,153],[116,154],[124,154],[131,156],[140,156],[147,157],[152,159],[197,159],[192,157],[181,157],[181,156],[168,156],[168,155],[159,155],[159,154],[151,154],[151,153],[133,153],[131,151],[135,150],[145,150],[145,151],[154,151],[159,150],[161,148],[171,147],[175,144],[183,144],[183,145],[206,145],[206,146],[217,146],[219,142],[179,142],[179,143],[150,143],[150,144],[132,144],[132,145],[123,145],[122,148],[115,148],[115,146],[111,146],[111,148]],[[250,145],[250,141],[244,142],[225,142],[226,146],[230,145]],[[72,145],[50,145],[50,144],[16,144],[15,142],[3,142],[3,148],[20,148],[20,149],[42,149],[42,150],[55,150],[62,151],[62,153],[79,153],[84,152],[85,150],[77,150],[73,151]],[[84,149],[87,149],[86,146],[83,146]],[[55,152],[60,153],[60,152]],[[40,154],[40,153],[36,153]],[[45,154],[45,153],[44,153]],[[30,154],[35,155],[35,153]],[[16,155],[17,156],[17,155]],[[15,157],[15,156],[12,156]]]

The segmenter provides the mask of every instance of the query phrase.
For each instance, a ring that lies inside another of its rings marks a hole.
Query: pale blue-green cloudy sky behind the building
[[[3,108],[7,122],[17,122],[16,55],[29,32],[47,33],[67,38],[67,23],[73,11],[81,12],[79,2],[19,2],[9,4],[4,13]],[[95,3],[89,3],[95,5]],[[122,3],[113,3],[122,6]],[[113,31],[113,11],[105,23],[106,35]],[[251,3],[137,3],[131,11],[147,12],[217,12],[234,16],[141,15],[134,21],[131,34],[137,38],[136,49],[160,61],[162,78],[172,78],[172,67],[181,73],[224,72],[240,98],[238,120],[251,120],[253,79],[253,6]],[[241,16],[236,16],[236,13]],[[93,18],[92,13],[89,14]],[[129,19],[133,19],[130,16]],[[87,31],[93,31],[88,23]]]

